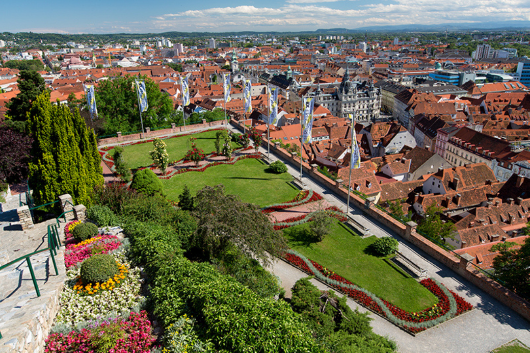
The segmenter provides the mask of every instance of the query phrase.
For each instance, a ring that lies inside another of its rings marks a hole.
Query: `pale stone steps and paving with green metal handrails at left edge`
[[[49,220],[22,230],[16,209],[6,210],[6,205],[18,206],[18,196],[11,197],[16,200],[6,200],[4,212],[0,212],[0,266],[47,248],[48,224],[55,223],[55,220]],[[59,231],[62,242],[63,231]],[[64,247],[61,247],[55,256],[58,275],[49,251],[30,257],[41,296],[37,296],[26,260],[0,270],[0,332],[3,336],[0,353],[44,350],[44,341],[59,309],[59,294],[66,280],[63,252]]]

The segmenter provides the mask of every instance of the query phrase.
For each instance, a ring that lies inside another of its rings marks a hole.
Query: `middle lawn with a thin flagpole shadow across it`
[[[184,185],[192,195],[206,185],[223,184],[226,194],[235,194],[244,202],[260,207],[292,200],[299,190],[287,184],[293,177],[289,173],[266,173],[268,165],[257,159],[243,159],[234,165],[218,165],[205,171],[188,171],[162,180],[169,200],[178,201]]]

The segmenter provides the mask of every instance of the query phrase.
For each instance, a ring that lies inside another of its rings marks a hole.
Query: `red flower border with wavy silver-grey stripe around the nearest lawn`
[[[419,313],[409,313],[399,307],[370,293],[364,288],[349,282],[349,280],[335,274],[333,271],[322,267],[314,261],[308,260],[294,250],[287,250],[285,259],[301,268],[304,272],[314,275],[326,284],[346,293],[350,298],[368,309],[387,318],[392,323],[417,333],[434,327],[446,320],[473,309],[461,296],[449,291],[443,284],[434,279],[423,279],[420,284],[426,287],[438,298],[438,303]]]

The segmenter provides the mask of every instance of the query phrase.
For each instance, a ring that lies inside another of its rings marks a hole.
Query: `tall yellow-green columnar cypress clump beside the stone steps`
[[[101,157],[78,112],[51,104],[43,93],[32,105],[28,128],[35,137],[29,183],[36,202],[68,193],[75,203],[90,205],[93,187],[103,184]]]

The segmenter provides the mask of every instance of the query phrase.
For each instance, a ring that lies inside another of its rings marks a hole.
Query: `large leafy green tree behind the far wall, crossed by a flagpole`
[[[136,79],[136,76],[120,76],[103,81],[95,89],[98,115],[104,120],[105,135],[142,129],[134,85]],[[148,108],[142,113],[144,128],[169,126],[175,120],[170,97],[162,93],[153,80],[145,76],[139,79],[145,80],[147,92]]]

